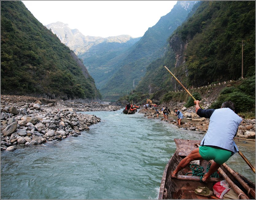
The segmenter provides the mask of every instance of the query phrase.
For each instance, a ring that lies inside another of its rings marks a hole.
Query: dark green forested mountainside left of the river
[[[101,97],[81,60],[21,1],[1,1],[1,94]]]

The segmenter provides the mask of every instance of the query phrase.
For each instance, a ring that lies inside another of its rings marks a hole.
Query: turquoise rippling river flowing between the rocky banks
[[[173,139],[204,134],[121,112],[85,112],[101,122],[79,137],[1,152],[1,199],[157,199]],[[255,166],[255,142],[236,143]],[[238,153],[227,164],[255,182]]]

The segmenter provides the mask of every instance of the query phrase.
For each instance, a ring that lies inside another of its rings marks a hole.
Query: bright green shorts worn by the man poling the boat
[[[217,164],[223,164],[231,157],[231,151],[211,146],[200,146],[199,153],[204,160],[214,160]]]

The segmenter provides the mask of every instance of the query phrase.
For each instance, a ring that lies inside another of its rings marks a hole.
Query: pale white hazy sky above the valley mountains
[[[22,1],[43,25],[57,21],[87,36],[141,37],[177,1]]]

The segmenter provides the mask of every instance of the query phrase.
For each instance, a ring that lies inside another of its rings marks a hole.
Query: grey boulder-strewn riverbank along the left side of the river
[[[121,107],[1,95],[1,151],[78,137],[100,118],[76,112],[116,111]]]

